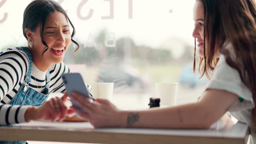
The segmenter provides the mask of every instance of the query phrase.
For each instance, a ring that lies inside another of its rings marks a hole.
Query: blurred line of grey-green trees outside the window
[[[80,48],[74,52],[75,45],[71,44],[66,52],[64,61],[73,64],[94,65],[98,63],[106,64],[166,64],[172,60],[171,49],[156,49],[149,46],[137,46],[130,37],[119,38],[115,41],[115,47],[106,46],[106,29],[102,29],[94,41],[96,45],[84,45],[80,43]],[[186,47],[187,48],[187,47]],[[187,49],[190,49],[188,47]],[[189,53],[184,53],[188,57]],[[104,65],[103,64],[103,65]]]

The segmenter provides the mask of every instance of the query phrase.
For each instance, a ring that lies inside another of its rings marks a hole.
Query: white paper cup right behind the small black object
[[[160,106],[174,106],[179,83],[155,83],[156,97],[160,98]]]

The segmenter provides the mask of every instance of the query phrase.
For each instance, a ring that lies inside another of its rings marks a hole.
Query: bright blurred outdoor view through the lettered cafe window
[[[22,17],[31,0],[0,2],[0,49],[27,46]],[[60,0],[75,26],[64,62],[86,83],[114,82],[113,103],[147,107],[156,82],[178,82],[177,104],[195,101],[205,78],[193,74],[191,0]]]

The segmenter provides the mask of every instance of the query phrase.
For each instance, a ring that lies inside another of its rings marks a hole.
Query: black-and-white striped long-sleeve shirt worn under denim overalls
[[[27,74],[29,60],[26,53],[19,48],[7,49],[0,53],[0,124],[25,122],[25,112],[29,106],[8,105],[18,93],[24,83]],[[49,92],[66,91],[61,75],[69,73],[69,68],[63,62],[53,64],[50,68]],[[44,93],[46,87],[46,71],[40,71],[36,65],[32,65],[31,82],[28,85],[32,89]],[[8,118],[7,118],[8,117]],[[7,119],[9,122],[7,122]]]

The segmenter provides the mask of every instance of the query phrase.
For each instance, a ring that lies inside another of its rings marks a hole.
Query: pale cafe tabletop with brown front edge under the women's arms
[[[227,130],[94,128],[89,122],[39,122],[0,127],[0,140],[83,143],[247,143],[249,128],[237,122]]]

